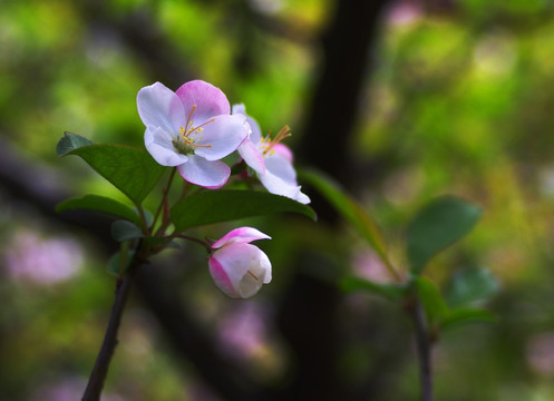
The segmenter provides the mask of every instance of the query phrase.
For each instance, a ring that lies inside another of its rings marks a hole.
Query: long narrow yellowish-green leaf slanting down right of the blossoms
[[[390,268],[391,264],[382,236],[373,218],[354,199],[349,197],[343,188],[332,178],[317,170],[299,170],[302,180],[308,182],[350,223],[368,244],[377,252],[380,258]]]

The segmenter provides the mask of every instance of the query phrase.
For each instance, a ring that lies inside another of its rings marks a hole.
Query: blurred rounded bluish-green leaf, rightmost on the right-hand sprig
[[[469,306],[488,301],[499,290],[499,284],[487,268],[465,268],[454,274],[446,290],[450,307]]]

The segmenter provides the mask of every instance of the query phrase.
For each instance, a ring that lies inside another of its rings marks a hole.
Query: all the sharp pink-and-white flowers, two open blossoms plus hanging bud
[[[193,80],[174,92],[156,82],[140,89],[137,107],[146,126],[146,149],[161,165],[176,167],[186,182],[210,189],[223,187],[231,167],[222,159],[236,151],[245,167],[239,177],[255,175],[270,193],[310,203],[298,185],[292,151],[282,144],[291,135],[289,127],[274,137],[262,136],[244,105],[231,108],[213,85]],[[210,273],[226,295],[250,297],[271,281],[270,260],[250,244],[264,238],[270,237],[242,227],[210,246]]]

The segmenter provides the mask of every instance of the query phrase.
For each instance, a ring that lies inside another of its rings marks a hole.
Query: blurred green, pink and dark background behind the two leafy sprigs
[[[109,219],[58,215],[68,196],[122,199],[65,130],[143,146],[137,91],[204,79],[264,131],[292,127],[297,165],[370,212],[393,263],[416,211],[440,194],[484,217],[426,274],[489,268],[494,324],[443,333],[438,400],[554,399],[554,2],[551,0],[0,0],[0,399],[80,399],[113,302]],[[237,224],[273,282],[226,299],[184,244],[137,281],[107,401],[415,400],[409,320],[343,294],[379,260],[309,186],[319,222]],[[152,200],[155,204],[155,199]],[[88,228],[87,228],[88,227]]]

